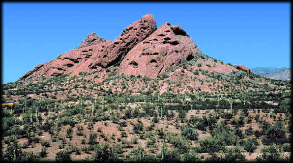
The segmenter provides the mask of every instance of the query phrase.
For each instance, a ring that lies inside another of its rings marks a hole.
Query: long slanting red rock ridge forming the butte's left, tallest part
[[[20,80],[69,73],[73,76],[85,71],[100,71],[118,63],[136,44],[143,41],[156,29],[155,19],[152,15],[146,14],[126,27],[113,42],[105,41],[91,33],[77,49],[60,54],[57,59],[44,63],[42,66],[36,66]]]

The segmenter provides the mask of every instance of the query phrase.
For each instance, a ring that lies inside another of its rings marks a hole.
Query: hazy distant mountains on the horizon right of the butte
[[[288,80],[291,79],[291,68],[282,67],[256,67],[251,69],[252,72],[261,75],[266,78],[276,80]]]

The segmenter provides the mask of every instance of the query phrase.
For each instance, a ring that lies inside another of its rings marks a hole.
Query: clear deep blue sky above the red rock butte
[[[290,3],[2,3],[2,83],[76,48],[106,40],[146,13],[181,26],[203,54],[231,64],[290,66]]]

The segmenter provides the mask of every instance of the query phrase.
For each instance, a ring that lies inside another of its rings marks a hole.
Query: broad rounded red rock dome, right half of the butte
[[[125,56],[119,73],[156,78],[200,53],[181,27],[165,23]]]

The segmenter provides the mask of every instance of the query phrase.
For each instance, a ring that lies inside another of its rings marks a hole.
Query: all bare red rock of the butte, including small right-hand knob
[[[37,65],[19,80],[100,73],[113,65],[119,66],[119,74],[157,78],[197,54],[201,51],[181,27],[165,23],[157,28],[154,17],[146,14],[126,27],[113,42],[90,33],[76,49]]]

